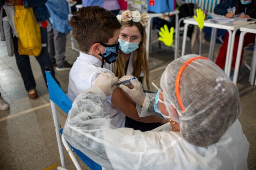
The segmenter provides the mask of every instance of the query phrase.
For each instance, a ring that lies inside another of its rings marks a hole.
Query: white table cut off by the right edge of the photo
[[[241,34],[239,37],[237,56],[236,56],[236,65],[235,65],[234,78],[233,78],[233,82],[235,84],[237,82],[237,76],[238,76],[238,71],[239,71],[239,65],[240,65],[240,60],[241,60],[241,53],[242,53],[245,34],[246,33],[256,34],[256,24],[242,26],[240,28],[240,31],[241,31]],[[253,51],[253,56],[252,56],[251,68],[252,68],[252,70],[250,73],[249,81],[250,81],[251,85],[253,85],[253,84],[256,85],[256,80],[254,82],[255,72],[256,72],[256,38],[255,38],[255,42],[254,42],[254,51]]]

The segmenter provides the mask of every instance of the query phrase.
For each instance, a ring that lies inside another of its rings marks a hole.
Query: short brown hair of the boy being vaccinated
[[[88,52],[96,42],[108,43],[108,40],[114,36],[115,30],[121,28],[121,24],[112,12],[98,6],[81,8],[73,13],[69,24],[83,52]]]

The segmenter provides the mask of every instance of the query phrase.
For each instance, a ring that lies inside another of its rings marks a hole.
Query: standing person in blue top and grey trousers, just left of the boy
[[[66,0],[48,0],[45,5],[50,13],[47,35],[51,61],[53,66],[57,65],[57,71],[70,70],[72,64],[65,60],[69,13],[67,2]]]

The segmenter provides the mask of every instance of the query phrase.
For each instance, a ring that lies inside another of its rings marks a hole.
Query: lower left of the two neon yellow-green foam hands
[[[160,28],[159,35],[160,37],[158,38],[159,41],[163,42],[166,46],[173,46],[173,27],[171,27],[170,32],[168,29],[167,25],[163,25],[163,27]]]

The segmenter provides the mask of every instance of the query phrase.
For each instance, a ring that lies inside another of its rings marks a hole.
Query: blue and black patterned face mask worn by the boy
[[[103,45],[105,48],[105,51],[103,54],[99,54],[102,57],[102,64],[101,67],[103,67],[104,64],[104,60],[107,63],[113,63],[117,61],[117,56],[118,56],[118,52],[121,50],[121,46],[119,44],[119,42],[117,42],[116,44],[104,44],[103,42],[98,42],[101,45]]]

